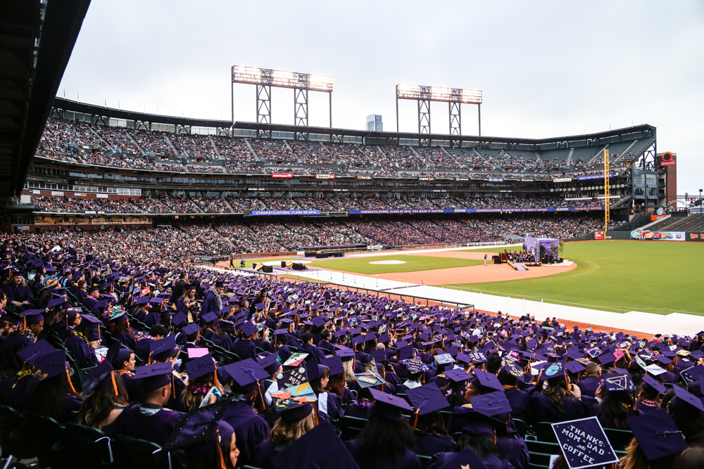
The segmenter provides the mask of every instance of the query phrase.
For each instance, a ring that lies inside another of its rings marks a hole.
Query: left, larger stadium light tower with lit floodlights
[[[294,90],[294,125],[308,127],[308,91],[322,91],[329,95],[330,128],[332,129],[332,77],[308,73],[282,72],[268,68],[232,67],[232,124],[234,124],[234,84],[256,85],[257,123],[271,124],[271,87]],[[257,131],[259,138],[271,138],[271,131]],[[296,140],[308,140],[308,132],[296,132]]]

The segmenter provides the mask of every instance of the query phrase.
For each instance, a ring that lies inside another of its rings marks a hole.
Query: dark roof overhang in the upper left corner
[[[0,2],[0,198],[22,191],[89,5]]]

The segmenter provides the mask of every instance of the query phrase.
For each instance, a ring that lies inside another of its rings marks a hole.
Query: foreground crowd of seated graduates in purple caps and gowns
[[[160,262],[168,240],[118,258],[119,231],[88,235],[2,238],[4,456],[528,469],[560,454],[551,424],[566,422],[603,440],[604,463],[642,454],[676,467],[704,444],[704,333],[567,328],[463,308],[466,297],[425,304]]]

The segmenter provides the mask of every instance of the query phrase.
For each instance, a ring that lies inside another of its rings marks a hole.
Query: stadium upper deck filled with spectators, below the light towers
[[[163,123],[162,123],[163,122]],[[530,174],[596,174],[609,149],[612,167],[632,166],[655,151],[655,128],[632,127],[562,139],[496,139],[448,136],[417,146],[413,134],[308,127],[308,141],[294,140],[292,126],[270,125],[272,139],[258,139],[260,124],[185,120],[56,100],[37,156],[125,169],[156,171],[418,178],[486,179]],[[320,134],[316,132],[325,132]]]

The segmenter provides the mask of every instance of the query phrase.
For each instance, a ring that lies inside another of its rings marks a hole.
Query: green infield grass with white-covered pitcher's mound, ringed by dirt
[[[390,260],[404,261],[406,264],[370,264],[370,262]],[[308,265],[322,267],[323,269],[344,270],[355,274],[389,274],[392,272],[448,269],[450,267],[466,267],[479,264],[484,264],[484,261],[451,259],[449,257],[391,255],[325,259]]]

